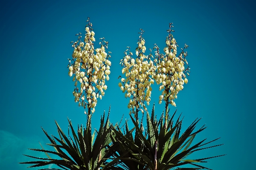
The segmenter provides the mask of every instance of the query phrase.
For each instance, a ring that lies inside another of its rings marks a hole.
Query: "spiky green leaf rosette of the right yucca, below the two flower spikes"
[[[118,146],[113,145],[113,150],[116,151],[116,155],[119,156],[116,156],[116,159],[113,159],[111,164],[119,162],[122,169],[125,170],[170,170],[174,168],[183,170],[209,169],[198,165],[198,163],[206,162],[204,160],[218,156],[198,159],[186,159],[186,157],[195,151],[217,147],[222,144],[204,147],[206,144],[217,140],[215,139],[204,143],[206,140],[204,139],[201,142],[192,145],[192,141],[195,136],[206,127],[203,126],[200,129],[195,130],[195,126],[200,120],[196,119],[184,131],[184,133],[180,134],[182,120],[180,120],[179,116],[177,121],[174,123],[173,118],[175,113],[170,119],[168,119],[167,128],[165,129],[163,115],[158,121],[156,116],[154,116],[153,106],[151,116],[147,113],[147,128],[144,135],[142,128],[139,127],[134,118],[130,116],[135,128],[137,129],[138,137],[142,145],[137,145],[134,142],[134,139],[132,138],[132,131],[134,129],[128,130],[127,124],[126,133],[122,133],[119,128],[113,128],[113,131],[117,136],[116,141],[118,142]],[[180,167],[185,164],[194,165],[195,167]]]

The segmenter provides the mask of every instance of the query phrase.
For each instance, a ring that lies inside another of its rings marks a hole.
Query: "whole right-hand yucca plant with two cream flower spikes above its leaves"
[[[172,35],[172,23],[169,23],[168,37],[166,37],[166,47],[163,49],[164,54],[160,53],[157,44],[154,44],[155,55],[150,54],[146,56],[145,40],[143,30],[141,30],[140,39],[136,48],[136,58],[132,56],[130,48],[124,52],[125,57],[120,60],[122,64],[122,74],[125,78],[121,78],[119,87],[122,92],[125,92],[125,97],[130,98],[128,108],[131,108],[130,117],[135,126],[135,135],[133,137],[132,130],[128,129],[126,123],[126,132],[122,133],[119,127],[112,127],[115,133],[115,139],[112,139],[114,144],[111,146],[116,152],[116,158],[113,159],[112,164],[119,162],[123,169],[126,170],[169,170],[173,168],[181,169],[180,166],[184,164],[195,165],[196,168],[183,169],[202,169],[206,168],[197,163],[205,162],[201,159],[186,159],[191,153],[203,150],[203,146],[213,141],[204,143],[205,139],[197,144],[191,146],[196,134],[205,129],[201,127],[195,130],[195,126],[200,119],[196,119],[185,131],[180,134],[182,120],[180,117],[176,123],[173,123],[173,117],[169,116],[169,105],[176,106],[174,100],[177,94],[183,90],[184,83],[188,82],[186,75],[189,76],[190,68],[186,60],[188,45],[185,44],[181,48],[180,54],[177,54],[177,42]],[[121,76],[120,76],[121,77]],[[151,116],[147,111],[144,102],[149,105],[151,97],[151,84],[156,82],[159,91],[162,94],[159,96],[159,104],[165,102],[165,112],[159,120],[154,116],[154,107]],[[138,113],[141,111],[147,116],[147,128],[143,135],[142,122],[139,123]],[[134,113],[134,118],[131,114]],[[140,127],[139,127],[140,124]],[[219,145],[211,146],[216,147]],[[216,157],[216,156],[214,156]],[[213,157],[212,157],[213,158]]]

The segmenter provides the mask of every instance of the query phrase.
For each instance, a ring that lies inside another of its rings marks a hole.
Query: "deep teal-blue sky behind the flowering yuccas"
[[[120,59],[126,46],[135,53],[137,34],[145,30],[146,48],[154,43],[161,52],[166,30],[180,48],[189,45],[189,82],[175,100],[171,112],[184,116],[183,130],[196,118],[207,129],[196,140],[221,137],[220,147],[195,153],[192,158],[226,156],[202,164],[214,170],[253,170],[256,167],[255,48],[256,3],[254,1],[0,1],[0,169],[25,170],[22,154],[43,157],[26,148],[45,148],[48,134],[57,135],[54,120],[67,132],[67,117],[73,125],[85,124],[83,108],[74,102],[74,82],[68,76],[71,41],[85,33],[87,17],[93,23],[96,45],[109,42],[110,80],[93,114],[98,128],[100,116],[111,105],[110,121],[128,118],[128,99],[118,87]],[[179,51],[178,51],[179,52]],[[149,54],[148,50],[147,53]],[[161,115],[160,92],[154,86],[151,103]],[[139,116],[141,117],[141,116]],[[76,127],[76,126],[75,126]],[[193,155],[193,154],[192,154]],[[45,157],[45,156],[44,156]],[[254,168],[253,168],[254,167]],[[33,169],[33,168],[31,168]]]

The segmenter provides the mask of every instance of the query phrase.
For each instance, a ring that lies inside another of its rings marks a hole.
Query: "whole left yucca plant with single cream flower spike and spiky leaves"
[[[100,167],[108,167],[107,164],[107,146],[111,143],[110,138],[110,123],[107,118],[104,125],[104,118],[101,118],[99,131],[91,131],[91,117],[95,111],[98,98],[102,99],[105,90],[108,86],[105,80],[109,80],[111,62],[108,60],[111,54],[108,49],[108,42],[105,38],[100,38],[100,47],[94,48],[95,33],[93,31],[93,24],[88,17],[87,25],[85,26],[85,36],[82,39],[82,34],[76,34],[78,40],[71,42],[73,49],[72,59],[69,60],[67,68],[69,68],[68,75],[73,77],[75,88],[73,96],[78,106],[87,109],[86,127],[79,127],[77,133],[74,131],[71,121],[69,126],[73,138],[68,137],[63,133],[58,123],[55,121],[58,128],[59,139],[55,136],[52,138],[43,129],[44,133],[50,140],[50,146],[54,147],[54,151],[42,149],[31,149],[44,152],[48,158],[38,158],[29,156],[40,161],[22,162],[21,164],[35,164],[30,167],[41,167],[48,164],[56,164],[65,170],[81,169],[81,170],[98,170]],[[105,49],[106,48],[106,49]],[[94,140],[95,139],[95,140]],[[61,159],[52,159],[49,153],[59,156]],[[26,155],[28,156],[28,155]],[[44,168],[47,169],[47,168]]]

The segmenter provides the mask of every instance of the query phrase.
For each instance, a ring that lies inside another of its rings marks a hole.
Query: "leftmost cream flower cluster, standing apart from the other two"
[[[81,33],[76,34],[79,36],[76,42],[71,42],[74,51],[73,59],[69,59],[68,75],[72,77],[74,74],[73,81],[76,87],[73,95],[75,102],[79,102],[79,107],[86,108],[87,105],[88,114],[90,114],[90,112],[95,111],[97,98],[102,99],[105,94],[104,91],[108,88],[105,85],[105,79],[109,80],[111,62],[108,57],[111,57],[111,52],[106,53],[105,48],[108,49],[108,42],[104,38],[101,38],[102,42],[99,42],[101,47],[94,49],[95,33],[90,18],[87,22],[89,24],[85,28],[84,42],[81,40]]]

